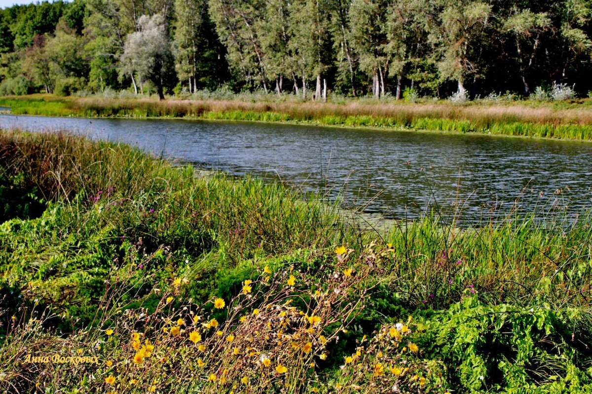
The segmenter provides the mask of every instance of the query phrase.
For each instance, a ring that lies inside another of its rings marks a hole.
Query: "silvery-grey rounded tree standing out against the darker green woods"
[[[165,20],[162,15],[143,15],[139,21],[140,31],[128,34],[121,55],[121,73],[149,80],[156,87],[159,99],[163,100],[164,87],[173,69],[173,58]]]

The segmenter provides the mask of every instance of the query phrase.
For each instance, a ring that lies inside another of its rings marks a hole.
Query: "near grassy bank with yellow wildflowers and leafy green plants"
[[[0,133],[0,181],[0,391],[592,392],[586,215],[375,234],[67,134]]]

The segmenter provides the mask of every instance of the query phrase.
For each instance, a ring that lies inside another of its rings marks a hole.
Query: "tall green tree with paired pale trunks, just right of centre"
[[[349,8],[350,40],[359,54],[360,69],[372,77],[372,94],[376,98],[385,94],[390,66],[387,12],[385,0],[352,0]]]

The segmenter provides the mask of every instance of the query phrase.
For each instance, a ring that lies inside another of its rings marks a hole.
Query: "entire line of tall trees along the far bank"
[[[592,1],[74,0],[0,10],[0,93],[592,89]]]

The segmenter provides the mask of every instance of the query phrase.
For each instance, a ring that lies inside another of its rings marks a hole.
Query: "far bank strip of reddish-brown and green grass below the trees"
[[[304,122],[349,127],[406,128],[546,138],[592,140],[592,108],[572,103],[448,101],[407,103],[369,99],[340,103],[56,98],[33,95],[0,99],[17,115],[79,117],[168,117],[215,120]]]

